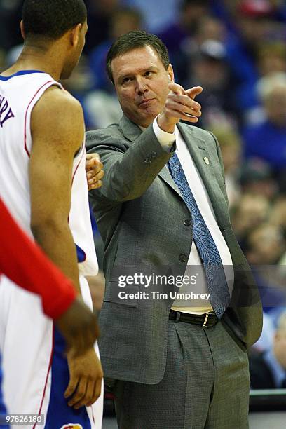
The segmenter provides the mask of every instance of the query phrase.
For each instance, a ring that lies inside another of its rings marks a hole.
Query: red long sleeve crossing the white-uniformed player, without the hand
[[[0,271],[29,292],[41,295],[43,311],[59,318],[76,298],[72,283],[16,224],[0,200]]]

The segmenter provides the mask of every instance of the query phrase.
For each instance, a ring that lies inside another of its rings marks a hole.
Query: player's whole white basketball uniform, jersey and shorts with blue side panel
[[[30,118],[34,105],[52,85],[62,88],[51,76],[40,71],[19,71],[7,78],[0,76],[0,196],[30,236]],[[92,308],[90,290],[84,276],[97,273],[97,258],[90,222],[85,164],[83,142],[79,154],[74,158],[69,226],[78,257],[81,255],[81,294]],[[43,314],[41,299],[36,294],[20,290],[4,275],[0,284],[0,351],[3,356],[4,400],[8,413],[43,414],[46,429],[102,428],[103,388],[100,398],[91,407],[81,407],[77,411],[68,407],[67,400],[64,400],[64,390],[69,381],[67,360],[63,353],[64,342],[58,342],[56,330],[53,331],[53,321]],[[97,343],[95,352],[99,355]],[[43,428],[36,423],[28,426],[11,425],[11,429],[27,427]]]

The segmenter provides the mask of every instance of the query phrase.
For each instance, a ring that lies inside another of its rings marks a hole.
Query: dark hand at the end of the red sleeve
[[[76,297],[73,304],[55,322],[67,341],[70,355],[86,353],[100,334],[95,315],[81,297]]]

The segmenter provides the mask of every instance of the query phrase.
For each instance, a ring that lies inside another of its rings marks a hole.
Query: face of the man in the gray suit
[[[123,113],[148,127],[165,106],[168,84],[174,81],[172,66],[166,70],[156,51],[144,46],[114,58],[111,69]]]

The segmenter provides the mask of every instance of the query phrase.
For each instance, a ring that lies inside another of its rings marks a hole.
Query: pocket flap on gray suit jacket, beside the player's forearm
[[[111,280],[105,285],[104,302],[112,302],[123,306],[137,307],[139,299],[139,285],[125,285],[120,287],[118,282]]]

